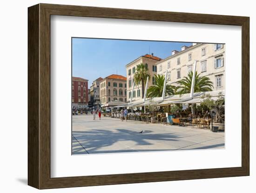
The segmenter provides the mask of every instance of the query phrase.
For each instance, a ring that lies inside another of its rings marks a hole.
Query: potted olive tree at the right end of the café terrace
[[[201,105],[206,106],[210,111],[215,112],[213,118],[213,125],[219,127],[219,131],[225,130],[225,99],[222,95],[222,92],[219,93],[219,96],[216,101],[211,99],[210,95],[202,96],[203,101]]]

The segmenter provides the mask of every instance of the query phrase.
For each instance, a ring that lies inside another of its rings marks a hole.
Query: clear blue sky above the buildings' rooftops
[[[117,40],[117,39],[72,39],[72,73],[74,77],[88,79],[88,86],[98,77],[120,74],[126,77],[125,65],[149,53],[167,58],[171,51],[180,51],[182,45],[192,43]]]

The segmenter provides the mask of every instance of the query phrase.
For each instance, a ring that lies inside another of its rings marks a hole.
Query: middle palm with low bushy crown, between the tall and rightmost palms
[[[163,75],[155,75],[155,85],[150,86],[148,88],[148,97],[158,97],[162,96],[164,85],[164,76]],[[176,87],[170,84],[167,84],[165,87],[165,95],[174,95],[176,91]]]

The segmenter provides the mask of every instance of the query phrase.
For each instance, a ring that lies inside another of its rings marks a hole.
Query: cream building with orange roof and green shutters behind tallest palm
[[[134,91],[132,93],[132,88],[133,88],[133,82],[134,82],[134,75],[136,72],[136,66],[139,64],[145,64],[146,66],[148,66],[148,72],[150,75],[150,80],[148,83],[148,86],[154,85],[155,84],[155,77],[154,75],[157,74],[157,67],[156,67],[156,63],[161,61],[161,58],[158,58],[156,56],[154,56],[154,54],[152,53],[150,54],[146,54],[144,56],[141,56],[137,59],[135,59],[134,61],[130,62],[129,64],[126,65],[126,73],[127,73],[127,101],[130,101],[131,96],[133,95],[133,100],[137,100],[140,99],[142,97],[142,85],[141,83],[136,85],[134,87]],[[146,83],[145,83],[146,84]]]

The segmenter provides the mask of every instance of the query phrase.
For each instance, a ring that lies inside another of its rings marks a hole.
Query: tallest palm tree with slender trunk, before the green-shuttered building
[[[136,72],[134,75],[134,81],[135,81],[135,84],[141,83],[142,98],[144,97],[145,83],[147,81],[147,77],[148,79],[150,79],[148,66],[142,63],[137,65]]]

